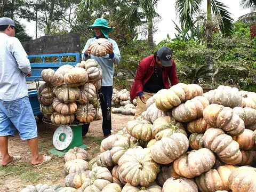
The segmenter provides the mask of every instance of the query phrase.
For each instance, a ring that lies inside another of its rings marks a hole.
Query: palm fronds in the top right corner
[[[240,2],[242,9],[251,9],[250,13],[244,14],[238,18],[238,21],[255,22],[256,21],[256,0],[242,0]]]

